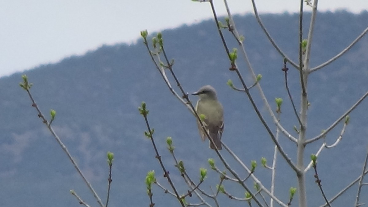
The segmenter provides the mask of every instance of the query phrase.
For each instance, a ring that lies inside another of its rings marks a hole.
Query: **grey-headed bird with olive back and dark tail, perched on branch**
[[[198,95],[199,99],[197,105],[195,105],[195,111],[198,113],[199,117],[204,118],[202,122],[207,128],[209,136],[215,145],[210,142],[209,147],[211,149],[221,150],[221,137],[224,131],[224,115],[221,103],[217,100],[215,88],[210,85],[205,85],[200,88],[197,92],[192,93],[192,95]],[[197,120],[199,134],[204,141],[206,139],[206,133],[201,127],[201,124]]]

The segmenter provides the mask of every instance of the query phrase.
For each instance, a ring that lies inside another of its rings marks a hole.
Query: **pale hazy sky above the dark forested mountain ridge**
[[[297,0],[255,1],[259,13],[294,13],[300,7]],[[214,2],[218,15],[224,15],[223,1]],[[253,12],[250,0],[228,3],[233,14]],[[341,9],[359,13],[368,10],[368,0],[319,1],[319,11]],[[191,0],[0,1],[0,77],[82,55],[103,44],[135,43],[144,29],[157,32],[211,17],[209,3]]]

